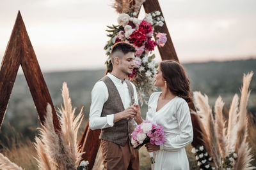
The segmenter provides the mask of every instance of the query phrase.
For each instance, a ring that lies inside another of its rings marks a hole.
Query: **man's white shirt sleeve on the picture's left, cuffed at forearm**
[[[108,88],[103,81],[95,83],[92,89],[92,104],[90,108],[90,129],[104,129],[107,127],[113,127],[114,115],[107,115],[106,117],[100,117],[104,103],[108,100]]]

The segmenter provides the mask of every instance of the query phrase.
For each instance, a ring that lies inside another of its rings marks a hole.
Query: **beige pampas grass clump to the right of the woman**
[[[237,94],[234,96],[230,105],[228,113],[227,131],[225,127],[225,120],[223,120],[223,106],[224,103],[221,97],[218,97],[215,103],[214,112],[215,120],[212,116],[211,107],[208,104],[208,97],[202,95],[200,92],[194,92],[195,106],[197,113],[204,124],[205,134],[202,134],[205,148],[209,155],[211,155],[216,169],[222,168],[224,165],[221,159],[228,157],[230,153],[235,152],[237,159],[235,161],[234,169],[253,169],[253,157],[251,155],[251,148],[246,141],[248,136],[248,120],[246,116],[246,107],[250,96],[249,85],[252,80],[253,73],[244,74],[243,87],[241,89],[240,103]],[[239,107],[238,107],[239,105]]]

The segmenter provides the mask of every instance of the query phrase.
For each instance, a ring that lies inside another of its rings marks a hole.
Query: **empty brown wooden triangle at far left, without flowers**
[[[46,106],[49,103],[52,106],[54,128],[56,131],[60,130],[60,122],[49,90],[19,11],[0,69],[0,127],[20,65],[28,82],[40,121],[44,124]]]

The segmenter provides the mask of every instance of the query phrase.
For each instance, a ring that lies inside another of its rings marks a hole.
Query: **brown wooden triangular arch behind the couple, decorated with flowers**
[[[134,1],[132,1],[131,3],[134,3]],[[152,11],[161,11],[158,0],[147,0],[145,1],[145,3],[143,3],[143,7],[146,13],[150,13]],[[161,11],[161,15],[163,16],[162,11]],[[157,26],[155,27],[155,31],[166,33],[166,38],[167,38],[166,44],[163,47],[157,46],[159,53],[161,55],[161,59],[162,60],[172,59],[172,60],[177,60],[179,62],[167,25],[164,24],[163,27]],[[193,102],[188,104],[191,110],[196,111]],[[203,145],[201,139],[202,139],[202,131],[204,131],[204,128],[199,120],[198,115],[191,114],[191,120],[193,124],[193,133],[194,133],[192,145],[193,146]],[[95,162],[95,158],[97,156],[97,152],[99,150],[99,146],[100,146],[99,134],[100,134],[99,130],[92,131],[90,129],[89,120],[88,120],[86,127],[84,129],[83,136],[80,141],[80,146],[81,146],[82,152],[84,152],[84,154],[82,155],[83,159],[88,160],[90,162],[90,164],[88,165],[89,169],[92,169],[93,164]]]

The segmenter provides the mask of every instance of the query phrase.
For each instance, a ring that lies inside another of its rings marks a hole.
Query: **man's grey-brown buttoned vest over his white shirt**
[[[108,100],[103,105],[101,117],[124,111],[124,104],[113,81],[108,76],[104,76],[99,81],[103,81],[108,88]],[[133,100],[133,87],[128,80],[125,80],[125,82],[129,89],[131,100]],[[124,146],[128,139],[127,118],[115,122],[113,127],[101,129],[100,139]]]

